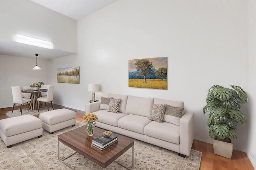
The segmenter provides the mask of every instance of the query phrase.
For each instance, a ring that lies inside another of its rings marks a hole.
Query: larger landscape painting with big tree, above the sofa
[[[167,90],[167,57],[129,60],[129,87]]]

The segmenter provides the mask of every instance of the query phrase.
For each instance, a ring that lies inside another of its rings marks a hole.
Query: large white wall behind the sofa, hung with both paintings
[[[89,83],[101,85],[96,99],[118,93],[181,100],[195,113],[195,139],[211,143],[202,112],[208,89],[248,90],[247,12],[241,0],[118,0],[78,21],[78,55],[52,61],[54,70],[80,66],[80,84],[56,83],[55,102],[84,110]],[[128,87],[128,60],[150,57],[168,57],[168,90]],[[247,151],[247,131],[248,123],[238,125],[234,149]]]

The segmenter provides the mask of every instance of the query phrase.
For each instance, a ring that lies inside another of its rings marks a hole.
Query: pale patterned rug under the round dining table
[[[24,106],[25,107],[25,106]],[[26,106],[27,107],[27,106]],[[52,110],[52,107],[49,107],[49,111],[51,111]],[[56,110],[56,109],[55,109]],[[38,114],[40,114],[40,113],[43,113],[43,112],[46,112],[46,111],[48,111],[48,109],[47,109],[47,106],[44,106],[44,109],[42,109],[42,107],[39,109],[39,111],[38,110],[30,110],[30,111],[28,111],[28,109],[26,108],[24,108],[24,109],[22,109],[22,115],[38,115]],[[16,116],[20,116],[20,109],[18,109],[18,110],[14,110],[13,111],[13,113],[12,113],[12,111],[8,111],[8,112],[6,112],[6,116],[7,117],[16,117]]]

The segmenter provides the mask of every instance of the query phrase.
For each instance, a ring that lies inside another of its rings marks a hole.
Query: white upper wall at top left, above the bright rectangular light
[[[77,53],[77,21],[30,0],[0,1],[0,39],[16,34],[54,44],[54,49]]]

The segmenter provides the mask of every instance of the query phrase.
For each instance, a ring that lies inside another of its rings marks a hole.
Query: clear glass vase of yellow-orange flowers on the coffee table
[[[88,136],[92,136],[94,133],[94,127],[96,121],[98,120],[98,116],[94,113],[88,113],[83,116],[83,121],[86,121],[86,132]]]

